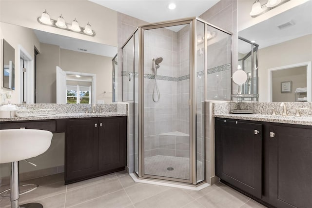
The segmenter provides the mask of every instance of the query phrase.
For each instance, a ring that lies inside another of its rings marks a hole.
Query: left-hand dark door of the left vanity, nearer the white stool
[[[65,183],[98,170],[98,119],[67,122],[65,141]]]

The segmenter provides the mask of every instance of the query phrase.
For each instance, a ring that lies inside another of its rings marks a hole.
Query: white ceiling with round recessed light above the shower
[[[195,17],[203,14],[219,0],[90,0],[120,13],[150,23]],[[176,3],[175,10],[168,4]],[[138,25],[139,26],[139,25]]]

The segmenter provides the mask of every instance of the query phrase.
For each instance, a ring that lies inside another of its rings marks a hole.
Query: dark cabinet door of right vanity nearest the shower
[[[262,125],[215,120],[216,175],[261,199]]]

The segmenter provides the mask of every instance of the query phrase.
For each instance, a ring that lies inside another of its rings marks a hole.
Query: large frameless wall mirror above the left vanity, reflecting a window
[[[62,92],[58,103],[113,101],[112,59],[117,47],[4,22],[0,26],[4,31],[1,37],[7,37],[16,46],[16,82],[20,87],[15,93],[20,94],[20,103],[57,103],[57,87]],[[27,70],[24,72],[23,68]],[[57,79],[57,74],[61,79]],[[28,96],[27,92],[34,95]]]

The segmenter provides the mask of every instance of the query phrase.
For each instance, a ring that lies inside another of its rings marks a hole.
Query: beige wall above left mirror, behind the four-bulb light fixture
[[[0,21],[24,27],[69,36],[91,42],[117,46],[117,12],[88,0],[1,0]],[[71,23],[77,18],[80,26],[88,21],[96,32],[95,37],[39,24],[37,18],[44,9],[51,19],[62,14]],[[109,31],[109,32],[108,32]]]

